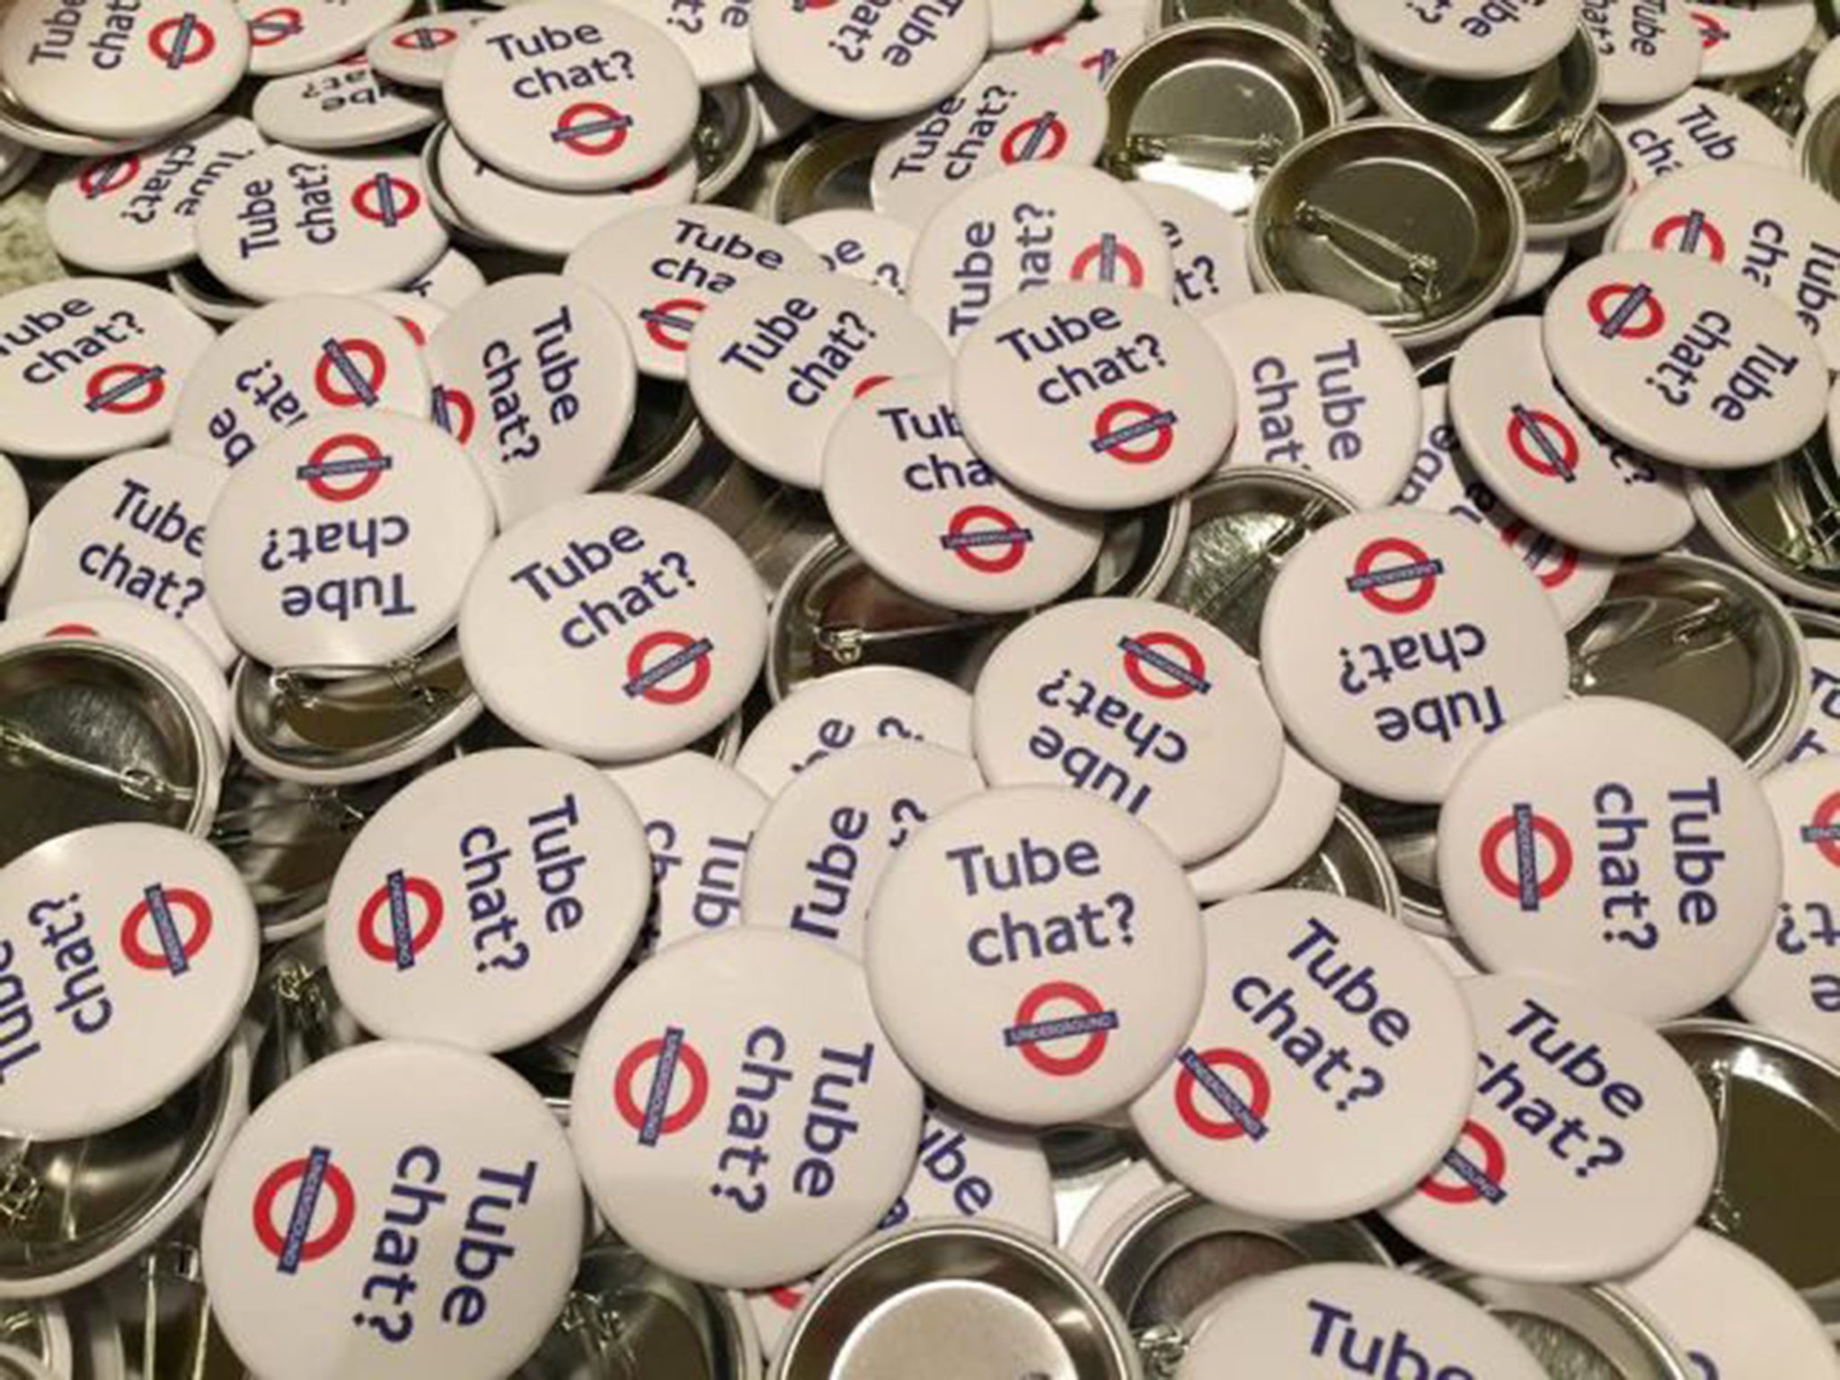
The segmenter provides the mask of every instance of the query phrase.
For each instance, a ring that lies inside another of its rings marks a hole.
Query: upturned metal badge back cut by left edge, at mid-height
[[[0,865],[109,822],[204,834],[223,754],[197,697],[158,662],[68,637],[0,655]]]

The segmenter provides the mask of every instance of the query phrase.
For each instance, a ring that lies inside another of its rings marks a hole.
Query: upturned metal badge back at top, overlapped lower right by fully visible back
[[[1336,79],[1303,42],[1264,24],[1198,18],[1132,50],[1106,79],[1100,166],[1167,182],[1229,212],[1312,134],[1341,120]]]

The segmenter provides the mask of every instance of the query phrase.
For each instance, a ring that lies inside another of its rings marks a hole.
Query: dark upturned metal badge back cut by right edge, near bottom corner
[[[1737,1242],[1840,1323],[1840,1069],[1737,1021],[1662,1034],[1719,1119],[1719,1174],[1700,1225]]]

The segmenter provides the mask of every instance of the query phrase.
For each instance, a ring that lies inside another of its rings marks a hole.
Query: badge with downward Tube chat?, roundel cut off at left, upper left
[[[638,399],[613,307],[558,274],[475,294],[429,340],[427,359],[434,420],[473,456],[500,526],[587,493]]]

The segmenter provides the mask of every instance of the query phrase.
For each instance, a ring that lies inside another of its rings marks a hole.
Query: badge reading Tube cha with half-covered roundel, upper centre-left
[[[764,272],[819,272],[784,226],[732,206],[659,206],[589,236],[563,272],[620,315],[638,372],[683,379],[697,322],[718,296]]]

